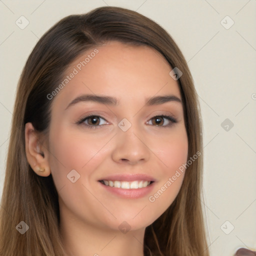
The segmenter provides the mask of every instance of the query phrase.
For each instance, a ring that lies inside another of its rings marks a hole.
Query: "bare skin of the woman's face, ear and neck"
[[[166,182],[186,162],[188,149],[182,103],[147,106],[146,98],[173,95],[181,100],[181,95],[169,75],[172,67],[157,51],[117,41],[97,49],[81,70],[77,63],[93,49],[70,64],[66,74],[73,68],[78,73],[52,99],[49,134],[37,148],[40,135],[26,124],[27,160],[38,175],[52,174],[66,255],[142,256],[146,226],[168,208],[180,189],[184,173],[171,185]],[[82,94],[116,97],[118,104],[69,105]],[[94,117],[77,123],[90,114]],[[118,126],[123,118],[131,124],[126,131]],[[45,171],[39,172],[38,166]],[[74,183],[67,178],[73,169],[80,175]],[[108,175],[138,173],[154,179],[152,189],[139,198],[120,196],[99,181]],[[150,201],[164,184],[164,191]]]

